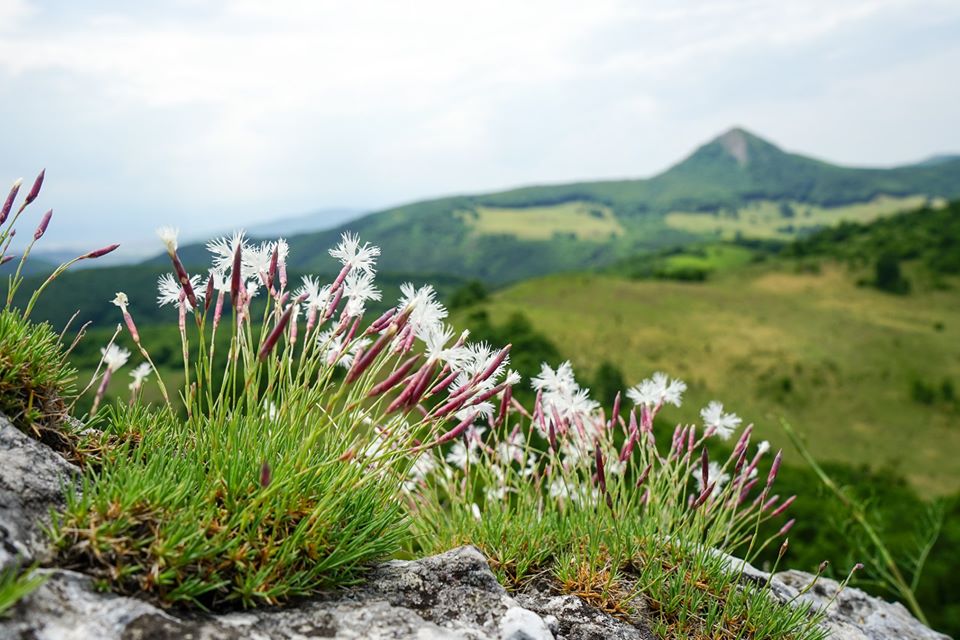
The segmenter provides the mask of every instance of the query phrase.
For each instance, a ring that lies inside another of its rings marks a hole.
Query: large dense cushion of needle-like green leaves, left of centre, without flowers
[[[53,538],[61,563],[122,593],[274,604],[356,580],[404,538],[396,482],[341,460],[351,442],[322,414],[109,422],[141,439],[86,477]]]

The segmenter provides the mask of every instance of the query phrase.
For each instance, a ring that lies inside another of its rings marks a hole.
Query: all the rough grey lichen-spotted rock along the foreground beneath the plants
[[[0,416],[0,562],[47,557],[43,524],[63,502],[76,469]],[[737,562],[731,559],[732,562]],[[613,618],[576,596],[508,594],[473,547],[375,568],[361,586],[284,608],[226,614],[182,613],[102,593],[91,578],[39,570],[47,581],[0,620],[0,640],[405,639],[655,640],[642,623]],[[745,580],[768,574],[746,565]],[[784,602],[828,602],[826,626],[838,640],[943,640],[899,604],[796,571],[770,579]]]

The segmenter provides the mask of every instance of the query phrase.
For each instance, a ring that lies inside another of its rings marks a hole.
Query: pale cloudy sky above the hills
[[[46,248],[133,255],[649,177],[734,125],[892,166],[960,152],[958,69],[956,0],[0,0],[0,191],[46,167]]]

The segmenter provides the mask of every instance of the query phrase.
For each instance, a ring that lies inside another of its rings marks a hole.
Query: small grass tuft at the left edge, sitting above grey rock
[[[15,309],[0,311],[0,412],[14,426],[58,445],[75,375],[50,325],[25,320]]]

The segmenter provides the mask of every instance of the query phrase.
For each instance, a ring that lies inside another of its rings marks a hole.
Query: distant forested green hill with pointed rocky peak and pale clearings
[[[290,244],[296,267],[318,269],[349,229],[383,247],[385,270],[503,283],[704,239],[789,240],[958,196],[960,158],[853,169],[732,129],[653,178],[416,202],[296,235]],[[188,263],[205,260],[199,246],[184,255]]]

